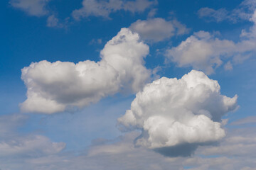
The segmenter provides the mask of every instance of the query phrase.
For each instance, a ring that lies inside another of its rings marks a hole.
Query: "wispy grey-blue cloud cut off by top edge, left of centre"
[[[143,12],[146,8],[156,4],[157,1],[150,0],[135,0],[135,1],[122,1],[122,0],[83,0],[82,8],[73,11],[72,16],[76,20],[88,16],[102,16],[110,18],[110,13],[119,10],[135,12]]]

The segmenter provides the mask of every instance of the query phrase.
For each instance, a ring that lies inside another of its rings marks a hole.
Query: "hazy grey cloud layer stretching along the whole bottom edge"
[[[130,132],[114,142],[92,145],[86,153],[79,155],[60,153],[41,157],[16,157],[11,162],[10,157],[9,161],[0,157],[0,166],[1,169],[14,170],[164,170],[170,167],[190,167],[193,170],[252,170],[256,166],[255,128],[228,130],[227,137],[219,145],[199,147],[193,157],[164,157],[150,149],[134,147],[133,142],[137,135],[138,132]]]

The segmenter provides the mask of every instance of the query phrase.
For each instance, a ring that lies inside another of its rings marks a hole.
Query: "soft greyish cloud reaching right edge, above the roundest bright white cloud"
[[[255,54],[256,49],[256,11],[250,17],[253,26],[242,30],[240,41],[220,40],[205,31],[193,33],[177,47],[166,50],[166,62],[176,62],[178,67],[193,67],[212,74],[214,69],[223,64],[223,60],[231,57],[225,69],[232,69]]]

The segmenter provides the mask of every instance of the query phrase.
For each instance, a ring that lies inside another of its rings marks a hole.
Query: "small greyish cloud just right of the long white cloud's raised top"
[[[129,27],[144,40],[153,40],[159,42],[176,35],[183,35],[188,32],[186,26],[178,21],[166,21],[163,18],[149,18],[147,20],[138,20]]]

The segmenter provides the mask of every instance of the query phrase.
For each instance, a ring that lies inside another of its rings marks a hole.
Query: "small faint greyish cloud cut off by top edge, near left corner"
[[[25,11],[30,16],[45,16],[48,14],[46,4],[49,0],[11,0],[11,6]]]

